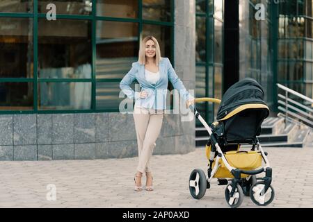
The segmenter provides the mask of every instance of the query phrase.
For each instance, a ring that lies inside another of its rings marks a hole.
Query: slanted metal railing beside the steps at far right
[[[283,114],[278,114],[278,117],[284,117],[285,126],[287,126],[287,122],[290,121],[290,119],[293,119],[294,121],[304,123],[306,126],[313,128],[313,99],[279,83],[277,86],[284,90],[284,95],[278,94],[278,110],[283,112]],[[291,99],[290,95],[298,101]],[[300,103],[299,100],[303,100],[303,103]]]

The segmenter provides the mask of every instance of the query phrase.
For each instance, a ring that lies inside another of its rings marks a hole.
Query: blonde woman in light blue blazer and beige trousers
[[[134,92],[130,85],[137,80],[141,92]],[[135,99],[134,122],[138,142],[138,167],[135,180],[135,191],[143,190],[141,178],[146,175],[145,189],[152,191],[152,173],[150,157],[157,137],[159,136],[163,110],[166,109],[166,92],[168,80],[186,101],[187,107],[193,104],[193,96],[188,94],[182,81],[175,74],[170,60],[161,58],[157,39],[147,36],[141,42],[138,62],[134,62],[131,70],[120,82],[120,88],[130,99]]]

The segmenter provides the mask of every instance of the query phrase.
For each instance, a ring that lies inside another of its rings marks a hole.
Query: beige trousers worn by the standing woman
[[[162,110],[135,107],[133,115],[138,143],[137,171],[150,172],[150,157],[160,134],[163,112]]]

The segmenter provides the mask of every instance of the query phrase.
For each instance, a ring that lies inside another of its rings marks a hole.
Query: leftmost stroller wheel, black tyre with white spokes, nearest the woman
[[[189,191],[195,199],[201,199],[207,191],[207,177],[202,169],[194,169],[189,177]]]

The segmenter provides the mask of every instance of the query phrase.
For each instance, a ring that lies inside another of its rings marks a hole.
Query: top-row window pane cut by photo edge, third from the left
[[[138,0],[98,0],[97,16],[137,18]]]

